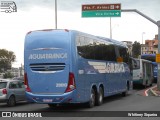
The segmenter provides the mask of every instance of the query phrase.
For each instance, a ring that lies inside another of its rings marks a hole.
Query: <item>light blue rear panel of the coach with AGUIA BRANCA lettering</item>
[[[70,70],[69,50],[68,32],[37,31],[27,35],[25,71],[35,96],[64,94]]]

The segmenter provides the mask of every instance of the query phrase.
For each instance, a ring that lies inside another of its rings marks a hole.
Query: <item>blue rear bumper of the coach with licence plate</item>
[[[75,103],[75,90],[60,95],[45,95],[26,92],[28,102],[42,104],[60,104],[60,103]]]

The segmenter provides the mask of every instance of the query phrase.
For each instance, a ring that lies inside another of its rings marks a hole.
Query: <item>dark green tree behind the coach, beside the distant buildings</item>
[[[141,55],[141,44],[135,41],[132,45],[132,55],[134,58],[138,58]]]

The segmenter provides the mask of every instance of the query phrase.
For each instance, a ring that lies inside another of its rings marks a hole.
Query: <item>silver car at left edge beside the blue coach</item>
[[[0,79],[0,103],[15,106],[19,101],[25,101],[25,85],[20,80]]]

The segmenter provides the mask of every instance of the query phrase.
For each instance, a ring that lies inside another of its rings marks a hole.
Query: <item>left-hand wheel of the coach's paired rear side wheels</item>
[[[96,101],[95,98],[96,98],[96,93],[95,93],[95,90],[92,88],[91,94],[90,94],[90,100],[87,103],[87,107],[92,108],[95,106],[95,101]]]

